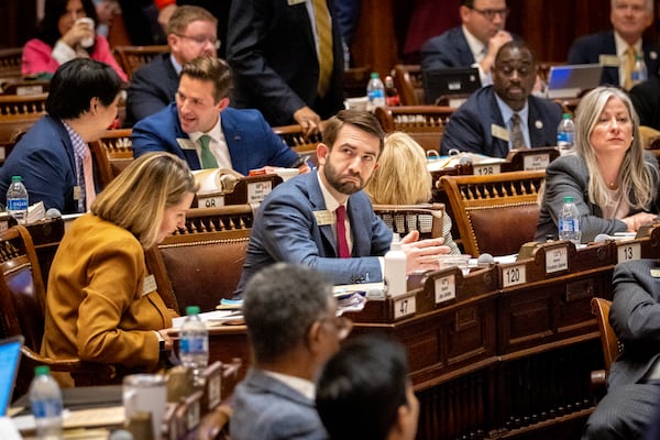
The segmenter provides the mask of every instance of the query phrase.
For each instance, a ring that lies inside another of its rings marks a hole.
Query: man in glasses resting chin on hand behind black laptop
[[[497,51],[512,41],[505,31],[506,0],[462,0],[460,26],[433,36],[421,47],[422,70],[476,67],[483,86],[493,84],[491,68]]]

